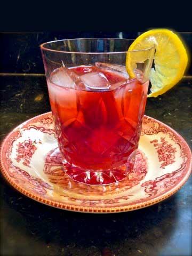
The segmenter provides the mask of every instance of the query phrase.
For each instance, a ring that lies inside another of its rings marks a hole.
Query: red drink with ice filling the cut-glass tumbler
[[[51,77],[62,69],[70,86],[64,87],[62,79],[59,85],[57,79],[47,84],[66,173],[91,185],[124,179],[132,170],[138,148],[148,82],[141,84],[96,66],[59,68]],[[66,74],[75,77],[75,85]],[[85,82],[90,77],[93,84],[87,89]],[[100,84],[96,88],[94,79],[101,79],[106,88]]]

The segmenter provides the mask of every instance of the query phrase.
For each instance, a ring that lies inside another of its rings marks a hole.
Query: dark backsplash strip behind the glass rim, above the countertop
[[[170,28],[171,29],[171,28]],[[112,37],[135,39],[141,32],[28,32],[0,33],[0,73],[40,73],[44,74],[40,45],[45,42],[87,37]],[[178,35],[185,42],[191,55],[192,32],[180,32]],[[192,75],[192,65],[189,63],[186,75]]]

